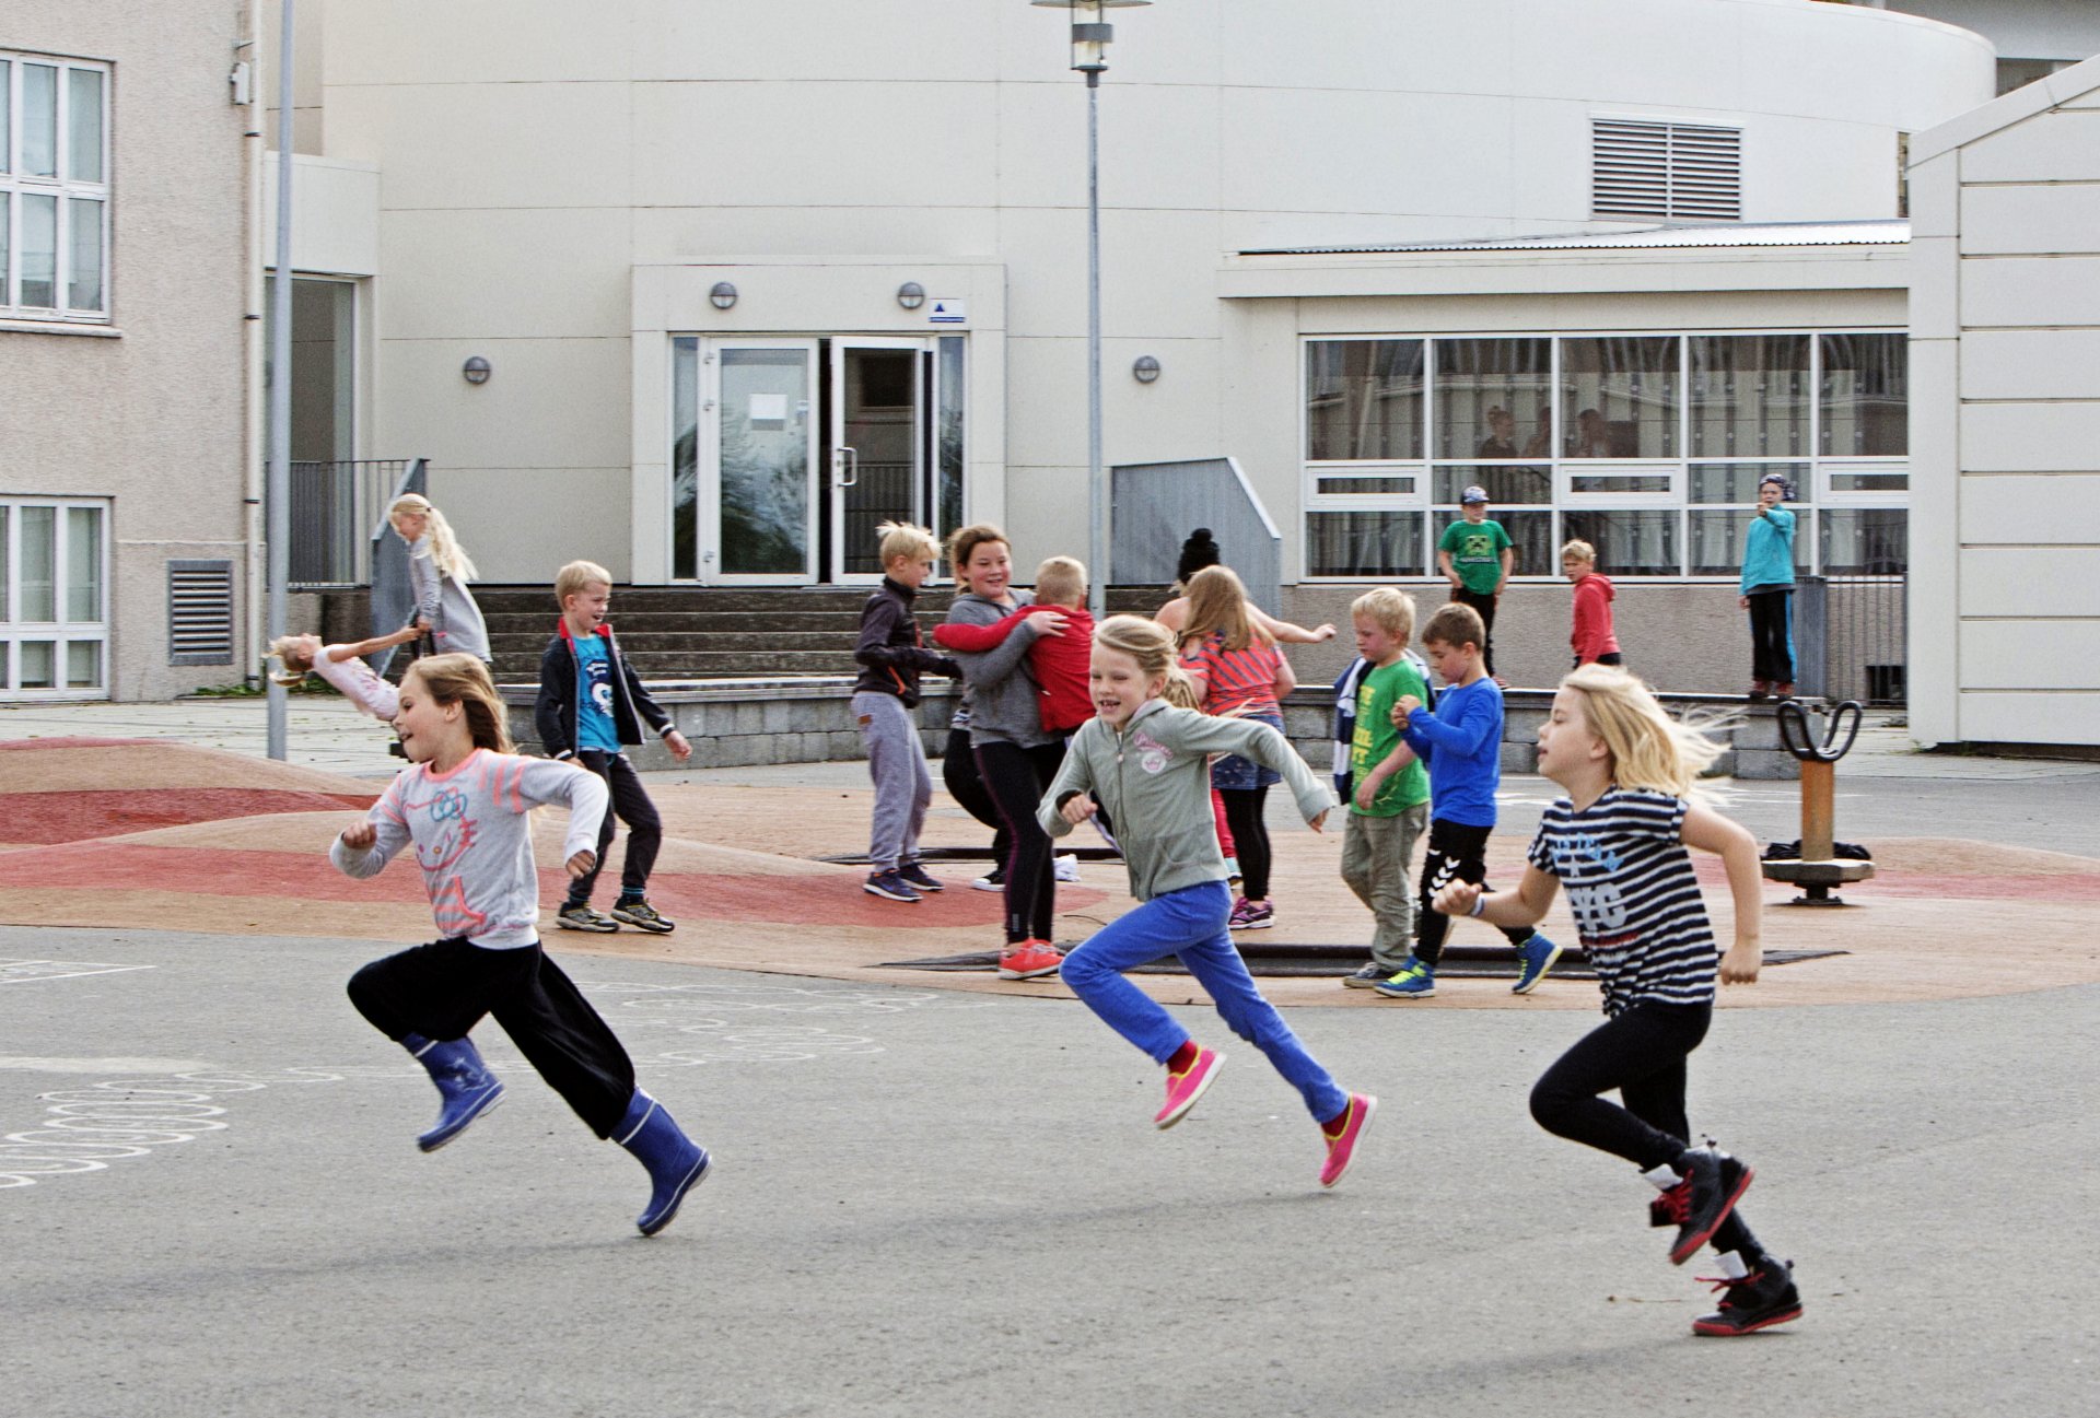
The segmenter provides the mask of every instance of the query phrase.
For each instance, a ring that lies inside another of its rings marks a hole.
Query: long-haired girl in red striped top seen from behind
[[[1180,669],[1203,696],[1203,713],[1254,719],[1275,730],[1283,728],[1283,696],[1298,688],[1283,650],[1247,615],[1247,589],[1231,566],[1205,566],[1189,579]],[[1275,902],[1268,900],[1268,829],[1262,824],[1262,805],[1277,782],[1273,768],[1237,753],[1210,770],[1239,856],[1243,896],[1233,902],[1235,931],[1264,931],[1277,923]]]

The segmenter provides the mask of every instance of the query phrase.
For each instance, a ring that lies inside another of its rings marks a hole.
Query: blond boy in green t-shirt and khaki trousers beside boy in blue
[[[1392,726],[1392,705],[1403,694],[1426,699],[1428,688],[1405,657],[1415,636],[1415,602],[1405,592],[1382,585],[1359,596],[1348,615],[1369,669],[1357,684],[1357,730],[1348,745],[1354,791],[1342,833],[1342,881],[1378,917],[1378,929],[1371,963],[1342,984],[1369,990],[1390,980],[1415,948],[1409,860],[1430,820],[1430,776]]]

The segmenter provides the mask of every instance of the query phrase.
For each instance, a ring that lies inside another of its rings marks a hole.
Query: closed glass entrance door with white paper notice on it
[[[704,581],[806,585],[817,579],[817,342],[718,342],[712,535]]]

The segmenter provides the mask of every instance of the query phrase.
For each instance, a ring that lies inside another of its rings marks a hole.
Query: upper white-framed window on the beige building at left
[[[109,65],[0,50],[0,315],[109,319]]]

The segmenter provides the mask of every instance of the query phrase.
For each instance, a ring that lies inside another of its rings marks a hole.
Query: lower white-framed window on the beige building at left
[[[0,497],[0,692],[109,692],[109,503]]]

